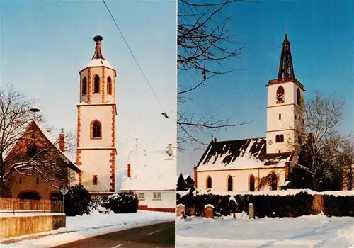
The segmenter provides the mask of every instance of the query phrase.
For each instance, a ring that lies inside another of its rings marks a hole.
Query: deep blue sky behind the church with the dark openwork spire
[[[253,120],[253,123],[219,132],[200,134],[203,142],[210,135],[217,140],[238,140],[265,137],[265,84],[278,77],[280,50],[286,33],[291,43],[295,77],[304,84],[305,98],[315,91],[332,92],[346,100],[345,115],[339,130],[353,132],[353,72],[354,72],[354,1],[270,1],[256,3],[236,2],[225,9],[230,16],[227,29],[238,35],[239,45],[246,44],[243,53],[223,64],[241,69],[227,76],[212,79],[210,87],[193,91],[188,104],[178,111],[200,115],[218,115],[219,119],[232,117],[234,122]],[[215,22],[217,22],[215,20]],[[235,47],[230,47],[232,50]],[[200,72],[197,79],[200,80]],[[178,77],[178,84],[195,80],[194,74]],[[203,150],[178,154],[178,173],[193,176]]]

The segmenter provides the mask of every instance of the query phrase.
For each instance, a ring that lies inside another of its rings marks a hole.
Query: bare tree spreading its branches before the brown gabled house
[[[70,178],[66,157],[57,149],[58,140],[49,140],[35,122],[40,123],[29,108],[35,103],[12,87],[0,90],[0,196],[11,188],[13,176],[39,175],[55,188],[58,182]],[[49,136],[49,135],[48,135]],[[67,136],[64,149],[70,149],[71,135]]]

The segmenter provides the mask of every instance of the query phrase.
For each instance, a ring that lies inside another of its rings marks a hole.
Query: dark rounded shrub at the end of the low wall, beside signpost
[[[82,184],[72,186],[65,195],[65,214],[68,216],[89,214],[90,203],[89,191]]]

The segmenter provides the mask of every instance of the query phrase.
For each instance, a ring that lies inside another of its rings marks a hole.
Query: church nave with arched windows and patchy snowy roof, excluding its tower
[[[195,187],[235,192],[280,189],[294,153],[267,154],[265,146],[265,138],[219,142],[214,138],[194,167]],[[268,175],[272,182],[265,181]]]

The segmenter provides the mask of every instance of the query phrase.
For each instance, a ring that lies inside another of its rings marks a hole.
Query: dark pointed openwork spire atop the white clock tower
[[[287,34],[285,34],[285,39],[282,42],[282,55],[280,57],[278,79],[290,79],[294,77],[294,67],[292,66],[290,42],[287,40]]]

